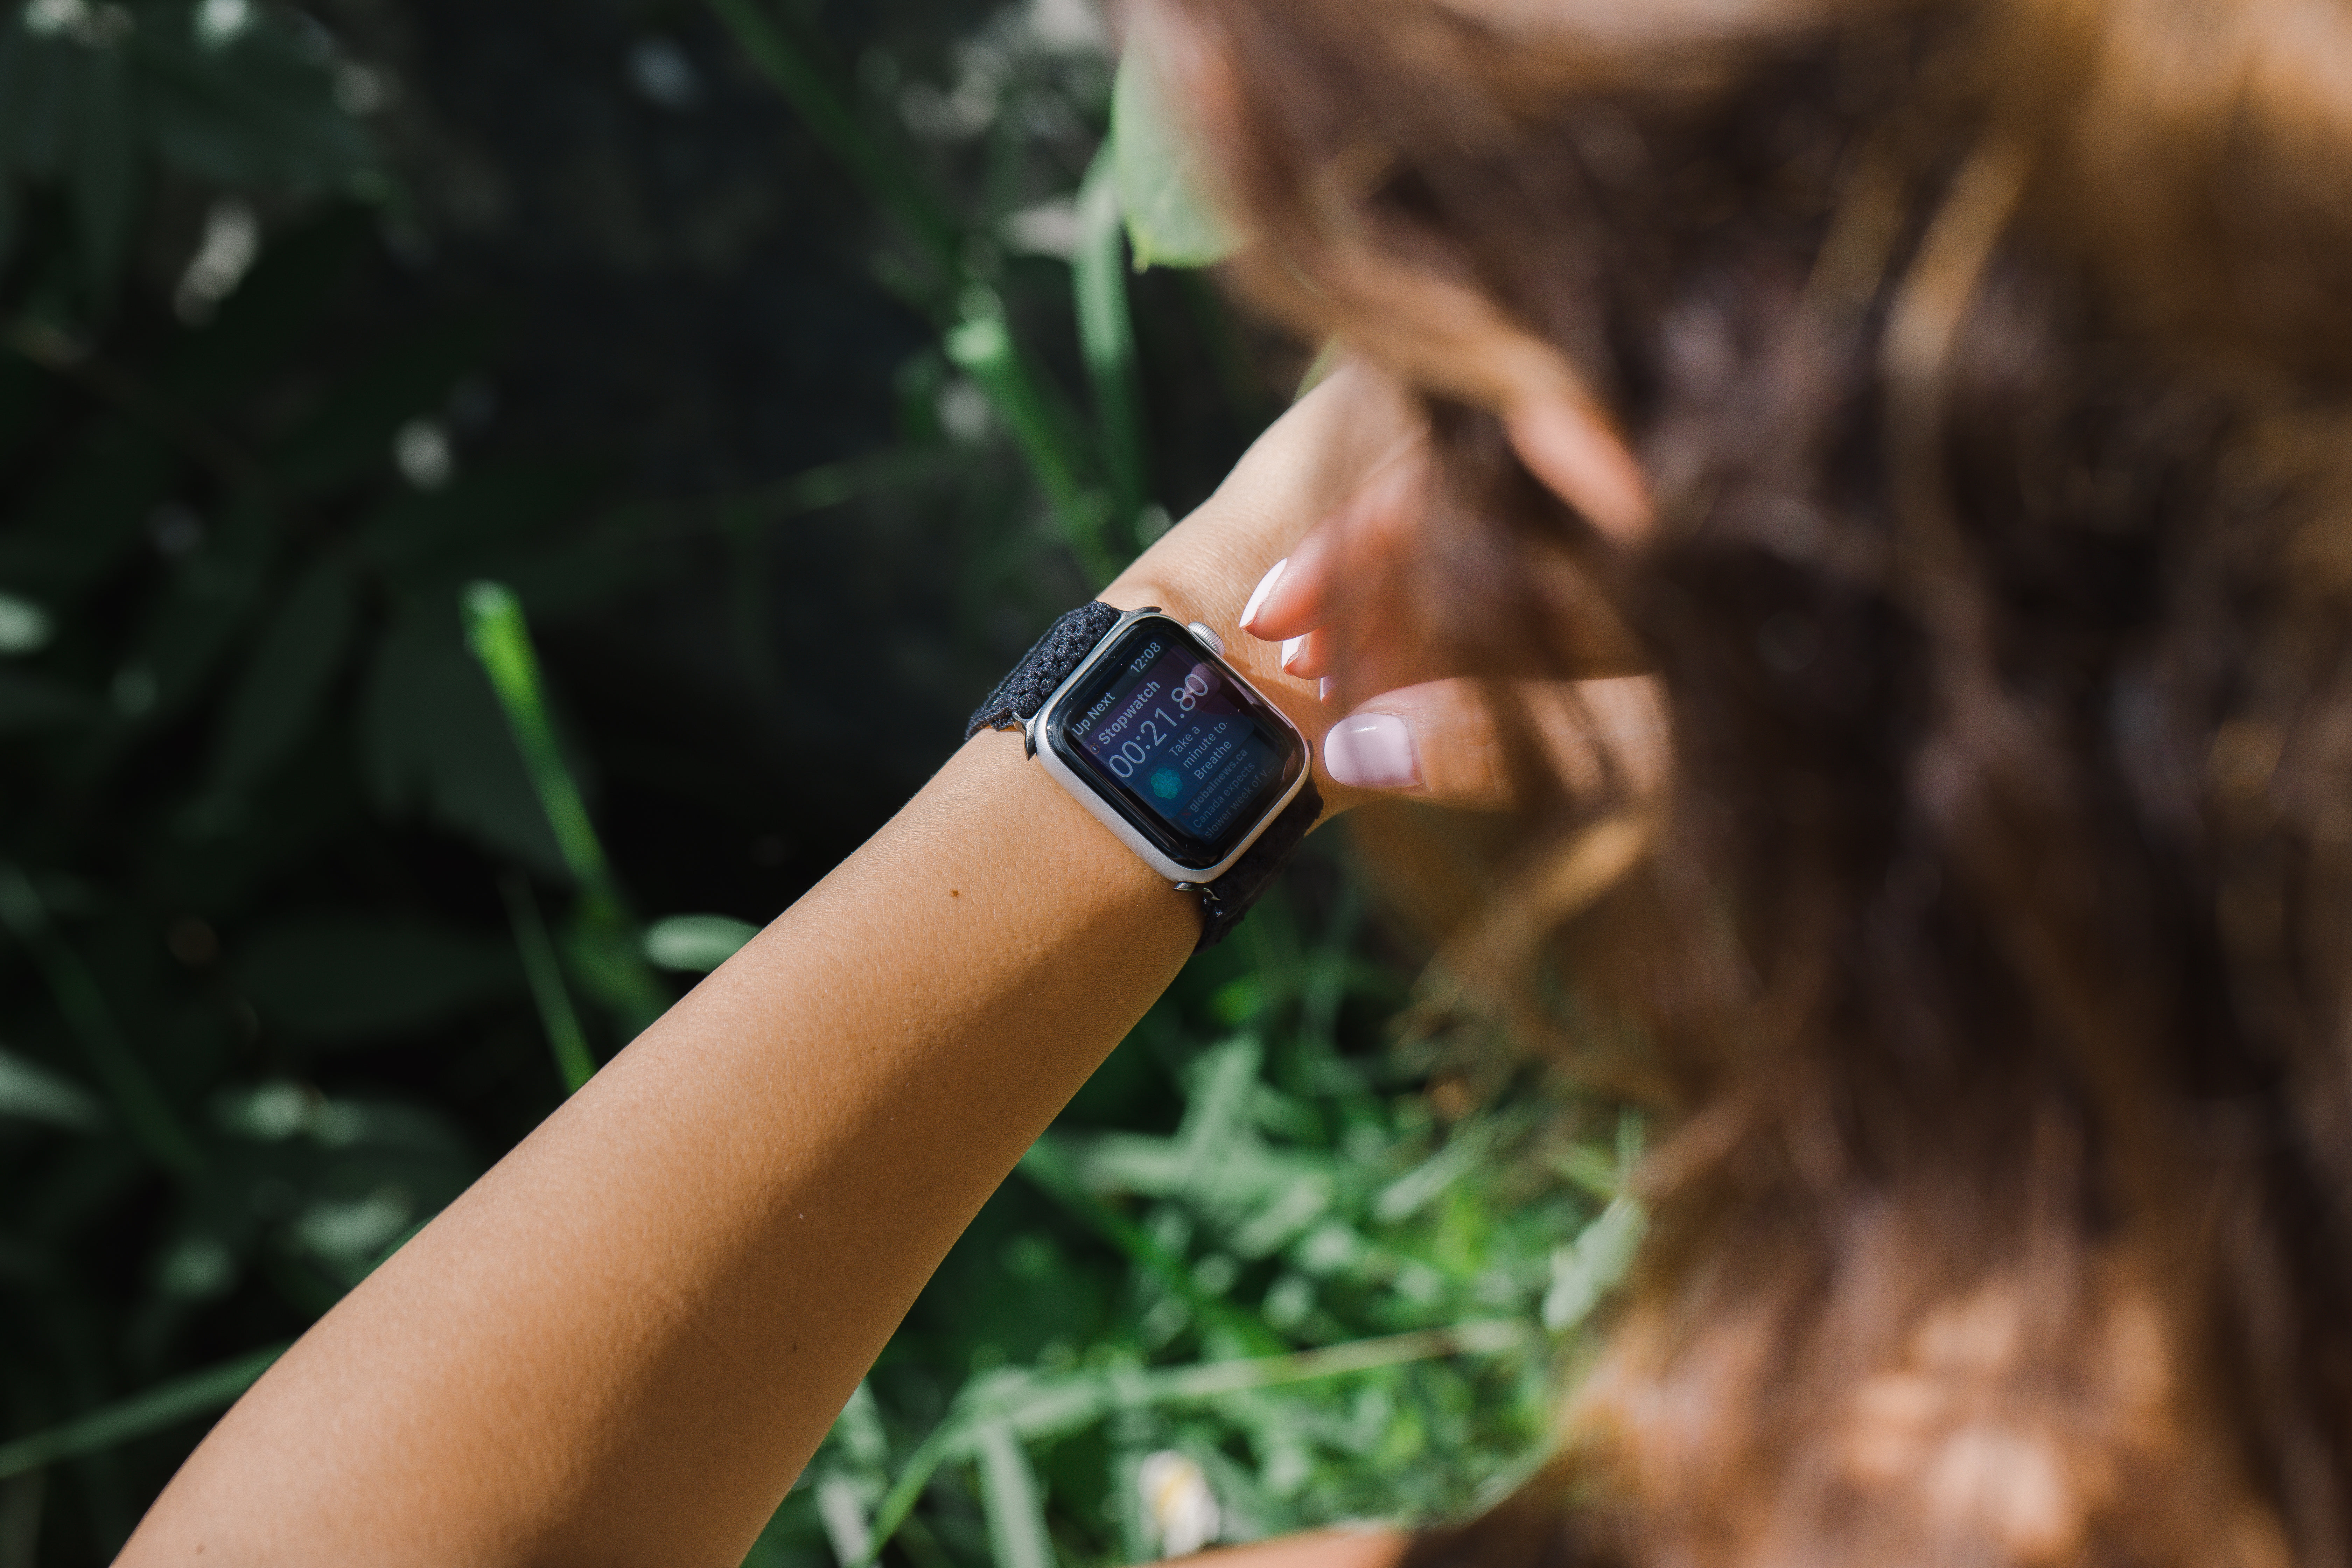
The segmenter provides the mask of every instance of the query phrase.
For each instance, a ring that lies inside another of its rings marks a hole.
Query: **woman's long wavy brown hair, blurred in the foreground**
[[[1164,26],[1240,287],[1430,402],[1435,635],[1672,724],[1515,884],[1642,1041],[1653,1244],[1418,1559],[2352,1559],[2352,5]],[[1644,541],[1515,463],[1538,383]]]

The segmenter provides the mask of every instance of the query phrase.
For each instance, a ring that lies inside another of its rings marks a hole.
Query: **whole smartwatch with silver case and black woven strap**
[[[1200,621],[1082,604],[971,724],[1028,755],[1145,865],[1200,896],[1200,947],[1240,924],[1322,816],[1308,738]],[[1195,952],[1200,952],[1195,947]]]

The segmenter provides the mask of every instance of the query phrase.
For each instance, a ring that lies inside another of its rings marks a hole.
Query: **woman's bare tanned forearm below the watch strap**
[[[741,1561],[1197,931],[978,736],[313,1328],[125,1561]]]

